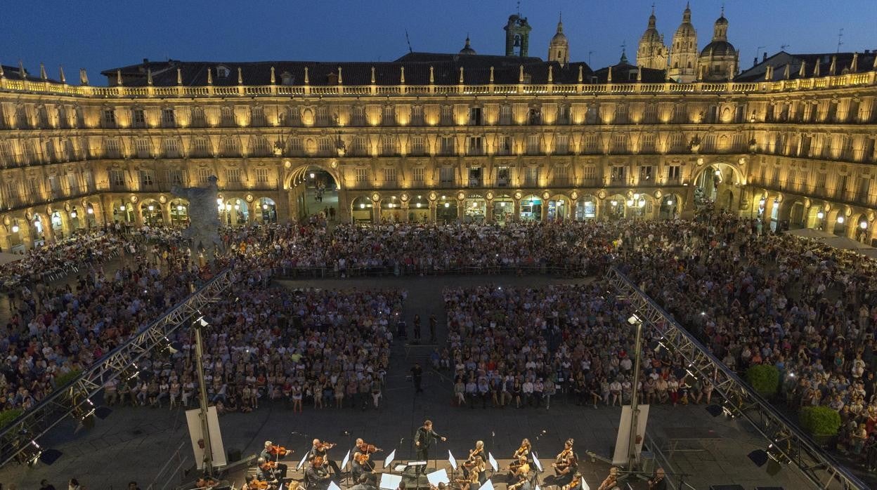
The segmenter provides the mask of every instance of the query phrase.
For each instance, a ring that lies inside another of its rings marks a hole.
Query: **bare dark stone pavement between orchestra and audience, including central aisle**
[[[503,286],[540,287],[566,283],[548,276],[440,276],[407,278],[366,278],[357,280],[282,281],[289,288],[404,288],[408,291],[405,316],[409,325],[415,314],[425,319],[435,313],[439,317],[439,341],[445,338],[444,311],[441,291],[446,287],[474,286],[494,283]],[[310,447],[310,439],[320,437],[339,448],[332,457],[344,456],[340,448],[353,445],[355,437],[382,447],[388,453],[398,448],[400,458],[412,458],[411,439],[424,418],[431,418],[435,429],[448,438],[439,445],[436,458],[446,457],[453,451],[457,458],[465,458],[474,440],[484,440],[488,451],[497,459],[509,458],[523,437],[529,437],[540,458],[549,464],[559,452],[563,440],[574,437],[576,449],[585,462],[581,468],[591,488],[599,486],[605,477],[607,465],[591,465],[584,451],[610,455],[615,444],[620,408],[578,407],[560,398],[552,400],[551,408],[456,408],[452,398],[451,380],[446,373],[426,370],[424,394],[415,394],[406,376],[416,360],[427,359],[431,346],[407,345],[397,341],[388,373],[388,384],[383,392],[380,408],[365,411],[353,408],[341,410],[326,408],[314,410],[305,407],[303,414],[294,414],[283,404],[266,403],[251,414],[230,414],[220,419],[225,449],[238,449],[242,454],[260,451],[262,443],[270,439],[301,455]],[[425,366],[425,365],[424,365]],[[686,482],[695,488],[709,488],[715,484],[737,483],[747,489],[755,486],[782,486],[808,488],[792,467],[785,467],[774,477],[766,474],[746,458],[749,451],[764,449],[745,423],[711,417],[704,407],[652,407],[649,416],[650,437],[666,446],[666,434],[685,437],[695,432],[712,430],[717,438],[691,441],[674,453],[671,463],[677,472],[690,473]],[[349,436],[345,436],[345,433]],[[61,487],[67,479],[79,479],[89,490],[125,488],[130,480],[137,480],[146,489],[162,465],[180,453],[187,466],[193,457],[189,445],[185,416],[181,409],[117,408],[103,421],[97,421],[90,430],[75,431],[73,423],[62,424],[39,441],[44,447],[63,452],[51,466],[37,464],[32,468],[11,464],[0,469],[0,483],[6,487],[15,483],[19,489],[39,488],[40,479],[49,479]],[[337,454],[336,454],[337,453]],[[381,453],[379,453],[381,454]],[[296,461],[295,455],[292,458]],[[173,487],[178,479],[161,479],[157,488],[165,484]],[[633,488],[645,488],[643,482],[633,482]]]

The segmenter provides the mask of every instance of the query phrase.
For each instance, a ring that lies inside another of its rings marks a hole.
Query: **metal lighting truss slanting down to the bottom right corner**
[[[834,458],[819,448],[795,423],[755,393],[736,373],[724,366],[688,330],[660,305],[645,295],[624,273],[610,268],[606,280],[617,294],[629,302],[645,325],[651,325],[662,337],[660,344],[681,354],[688,371],[712,381],[714,391],[724,398],[724,410],[742,416],[765,439],[765,446],[775,457],[802,472],[816,488],[866,489],[868,486]]]

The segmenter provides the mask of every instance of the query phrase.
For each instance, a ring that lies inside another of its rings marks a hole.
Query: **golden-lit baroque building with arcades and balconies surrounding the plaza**
[[[211,174],[232,225],[306,215],[322,175],[343,221],[667,219],[709,200],[870,242],[877,65],[847,65],[676,83],[473,50],[145,60],[104,72],[107,87],[3,67],[0,249],[117,221],[182,226],[171,187]]]

